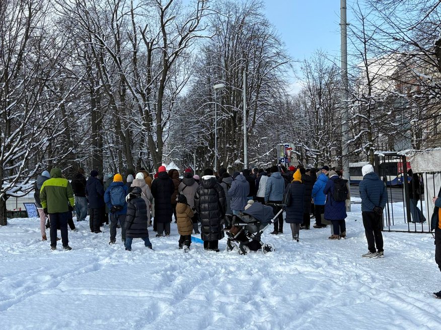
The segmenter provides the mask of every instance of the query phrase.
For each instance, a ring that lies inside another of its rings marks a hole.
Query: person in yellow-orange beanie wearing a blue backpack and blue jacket
[[[125,215],[127,213],[127,202],[125,197],[128,194],[128,188],[122,182],[121,174],[117,173],[113,176],[113,182],[109,185],[104,193],[104,202],[110,211],[110,242],[116,243],[116,225],[121,225],[121,240],[125,242]]]

